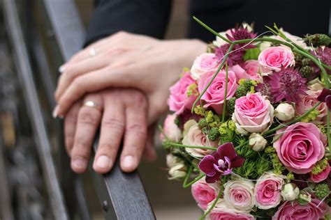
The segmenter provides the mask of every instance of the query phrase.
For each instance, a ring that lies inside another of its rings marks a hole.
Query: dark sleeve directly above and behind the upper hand
[[[85,45],[117,31],[163,38],[170,8],[171,0],[98,0]]]

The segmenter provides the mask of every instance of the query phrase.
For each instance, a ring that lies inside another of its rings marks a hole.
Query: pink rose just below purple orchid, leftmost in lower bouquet
[[[219,194],[219,182],[207,183],[205,178],[192,184],[191,192],[193,198],[202,210],[207,210],[207,206]]]

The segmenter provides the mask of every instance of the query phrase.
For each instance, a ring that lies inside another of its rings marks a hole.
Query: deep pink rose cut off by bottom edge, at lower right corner
[[[300,205],[297,201],[286,201],[278,208],[272,220],[324,219],[328,208],[325,202],[321,203],[321,201],[316,198],[313,198],[307,205]]]

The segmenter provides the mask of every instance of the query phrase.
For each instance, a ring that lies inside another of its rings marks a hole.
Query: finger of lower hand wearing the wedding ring
[[[84,102],[91,101],[100,107],[102,99],[100,95],[87,95]],[[82,106],[78,113],[78,121],[75,132],[73,149],[71,150],[71,168],[76,173],[82,173],[86,170],[91,146],[101,120],[101,109],[96,107]]]

